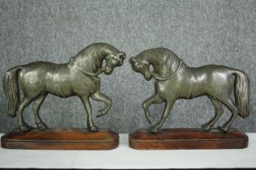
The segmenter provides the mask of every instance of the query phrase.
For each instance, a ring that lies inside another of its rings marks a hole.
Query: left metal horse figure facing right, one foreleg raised
[[[29,126],[23,117],[24,108],[33,100],[33,113],[37,127],[46,130],[47,125],[39,117],[39,108],[48,93],[67,98],[79,96],[87,113],[87,126],[89,131],[98,131],[92,120],[89,97],[102,101],[106,108],[98,111],[97,117],[104,116],[111,108],[111,99],[100,92],[100,79],[98,74],[104,72],[111,74],[115,66],[122,66],[125,53],[119,52],[115,47],[96,43],[85,47],[69,62],[55,64],[52,62],[32,62],[27,65],[15,66],[7,70],[3,79],[3,87],[8,101],[8,115],[19,115],[20,130],[28,131]],[[102,66],[105,60],[106,66]],[[20,89],[24,98],[20,101]]]

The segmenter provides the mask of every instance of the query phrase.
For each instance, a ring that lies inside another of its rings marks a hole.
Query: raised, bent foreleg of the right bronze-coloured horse
[[[163,100],[162,97],[160,97],[158,95],[154,95],[154,96],[151,96],[149,99],[147,99],[143,102],[142,107],[143,107],[144,112],[145,112],[145,117],[150,122],[150,125],[153,122],[153,118],[151,117],[150,111],[149,111],[150,105],[151,104],[161,104],[161,103],[163,103],[163,101],[164,100]]]

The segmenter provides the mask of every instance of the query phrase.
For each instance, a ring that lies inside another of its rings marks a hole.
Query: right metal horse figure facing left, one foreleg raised
[[[228,131],[237,116],[249,116],[249,79],[241,70],[216,65],[189,67],[175,53],[164,48],[147,49],[136,57],[131,57],[129,62],[132,70],[143,74],[146,80],[149,81],[152,77],[156,79],[156,94],[142,104],[150,124],[153,121],[148,109],[150,104],[165,102],[161,120],[150,127],[152,133],[160,130],[172,105],[180,98],[192,99],[204,95],[210,98],[215,107],[215,117],[202,125],[204,130],[210,130],[219,120],[223,114],[222,104],[228,107],[232,116],[223,126],[218,127],[220,130]],[[154,71],[150,71],[150,65]],[[236,103],[230,98],[233,90]]]

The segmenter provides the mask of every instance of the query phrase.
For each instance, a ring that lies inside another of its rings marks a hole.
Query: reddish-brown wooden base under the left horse
[[[119,135],[112,130],[89,132],[87,129],[12,130],[1,138],[8,149],[40,150],[111,150],[119,145]]]

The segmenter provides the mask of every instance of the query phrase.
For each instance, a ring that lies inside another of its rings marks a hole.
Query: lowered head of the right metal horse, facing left
[[[141,73],[147,81],[150,81],[152,74],[150,74],[150,64],[141,57],[131,57],[129,62],[132,65],[132,70]]]

